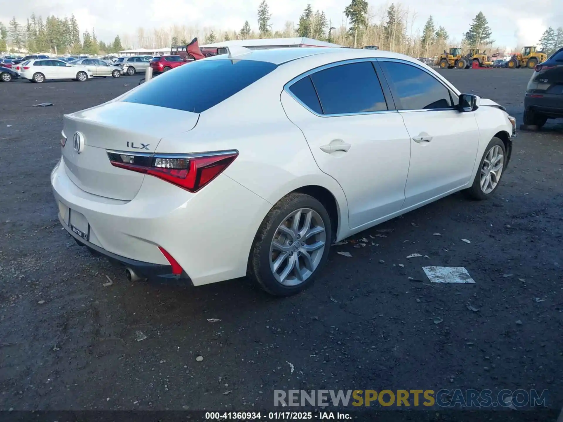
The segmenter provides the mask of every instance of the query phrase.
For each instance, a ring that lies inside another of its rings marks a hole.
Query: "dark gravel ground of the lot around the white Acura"
[[[530,71],[443,74],[521,121]],[[385,388],[548,389],[561,408],[561,124],[520,132],[493,199],[452,195],[362,232],[367,247],[334,247],[311,289],[274,299],[245,279],[127,282],[61,229],[61,115],[137,80],[0,84],[0,410],[266,409],[274,389]],[[423,265],[476,282],[409,280]]]

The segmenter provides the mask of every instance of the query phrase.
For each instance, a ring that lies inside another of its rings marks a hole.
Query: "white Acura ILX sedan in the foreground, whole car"
[[[486,199],[515,120],[411,57],[348,48],[198,60],[64,116],[64,228],[129,279],[309,286],[330,245],[465,190]]]

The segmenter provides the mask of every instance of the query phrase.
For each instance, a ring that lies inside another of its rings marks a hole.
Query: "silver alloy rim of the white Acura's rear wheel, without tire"
[[[284,286],[307,280],[319,266],[326,246],[323,219],[310,208],[300,208],[285,217],[270,245],[270,269]]]

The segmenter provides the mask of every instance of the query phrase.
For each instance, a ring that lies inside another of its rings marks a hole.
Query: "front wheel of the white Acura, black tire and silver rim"
[[[485,159],[491,158],[489,154],[492,155],[493,158],[497,156],[497,154],[502,154],[501,160],[493,163],[493,169],[498,167],[500,163],[500,169],[494,172],[489,172],[488,164],[486,163]],[[483,154],[481,161],[479,163],[479,169],[477,169],[477,174],[475,175],[475,179],[473,180],[473,185],[470,188],[466,189],[467,195],[474,200],[482,201],[485,199],[489,199],[490,196],[493,196],[494,192],[497,191],[497,188],[501,185],[502,176],[504,174],[504,163],[506,163],[506,150],[504,149],[504,143],[501,139],[494,137],[489,142],[489,145],[485,148],[485,153]],[[498,174],[500,172],[500,174]],[[485,174],[485,180],[482,181],[481,176]],[[488,175],[488,181],[487,176]],[[494,175],[494,176],[491,176]],[[496,181],[496,183],[494,183]],[[482,183],[485,183],[484,187]],[[494,186],[493,186],[494,183]],[[489,190],[491,188],[491,190]]]

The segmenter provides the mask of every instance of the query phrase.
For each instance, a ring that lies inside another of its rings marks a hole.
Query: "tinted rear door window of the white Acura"
[[[376,71],[369,61],[334,66],[311,79],[324,114],[387,110]]]

